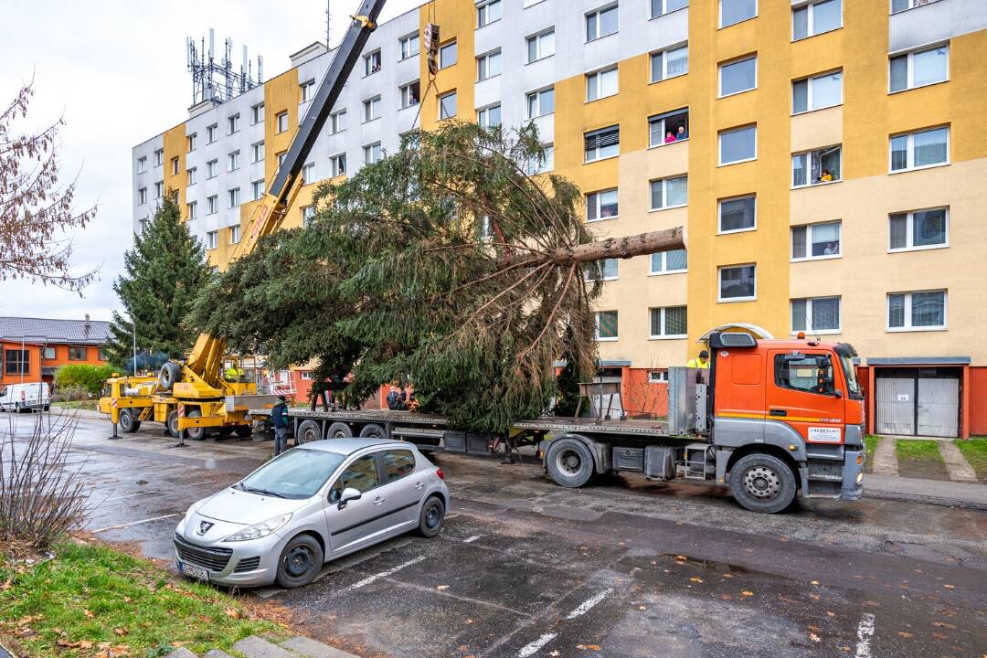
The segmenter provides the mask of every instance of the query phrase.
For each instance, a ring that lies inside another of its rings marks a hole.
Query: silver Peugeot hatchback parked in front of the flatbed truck
[[[175,530],[179,570],[222,585],[306,585],[323,563],[417,530],[449,508],[441,469],[409,443],[298,446],[193,504]]]

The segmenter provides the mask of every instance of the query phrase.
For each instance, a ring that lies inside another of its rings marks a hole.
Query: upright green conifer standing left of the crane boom
[[[196,331],[183,321],[210,276],[201,244],[166,194],[144,231],[134,236],[124,256],[124,274],[114,282],[129,320],[114,311],[107,344],[111,363],[123,366],[132,358],[132,321],[141,350],[184,356]]]

